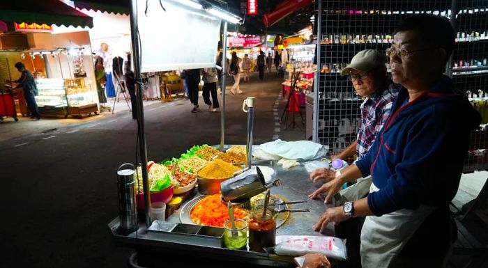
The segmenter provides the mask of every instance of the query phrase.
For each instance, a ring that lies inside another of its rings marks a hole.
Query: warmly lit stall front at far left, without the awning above
[[[8,69],[2,68],[0,76],[9,80],[17,79],[20,74],[13,68],[13,64],[24,63],[36,79],[36,102],[42,116],[66,118],[98,113],[88,32],[23,34],[33,45],[25,50],[18,48],[17,52],[0,52],[0,64],[9,66]],[[28,110],[21,90],[17,93],[18,111],[22,116],[27,116]]]

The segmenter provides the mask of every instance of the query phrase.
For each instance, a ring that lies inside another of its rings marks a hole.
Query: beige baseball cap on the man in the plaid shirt
[[[379,52],[375,49],[365,49],[355,56],[351,60],[351,63],[342,69],[341,75],[349,74],[351,69],[367,72],[386,63],[386,54]]]

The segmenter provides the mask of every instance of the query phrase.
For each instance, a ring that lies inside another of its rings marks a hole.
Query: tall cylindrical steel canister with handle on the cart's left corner
[[[124,167],[130,168],[124,168]],[[120,233],[137,230],[137,208],[135,199],[134,165],[125,163],[117,169],[117,194],[119,196]]]

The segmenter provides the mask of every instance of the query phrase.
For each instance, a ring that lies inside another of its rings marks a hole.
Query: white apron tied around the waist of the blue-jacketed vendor
[[[369,192],[379,191],[371,184]],[[390,267],[392,259],[435,207],[420,205],[417,210],[397,210],[383,216],[367,216],[361,230],[363,268]]]

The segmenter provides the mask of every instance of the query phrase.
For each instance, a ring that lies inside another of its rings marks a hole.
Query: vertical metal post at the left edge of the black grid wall
[[[317,71],[314,77],[314,112],[312,120],[312,141],[314,143],[319,142],[319,90],[320,90],[320,70],[321,70],[321,39],[322,39],[322,1],[319,1],[319,7],[317,8]],[[325,76],[324,76],[325,79]],[[308,138],[308,137],[307,137]]]

